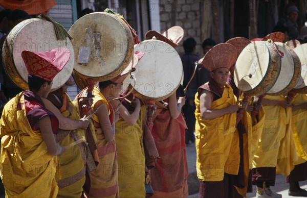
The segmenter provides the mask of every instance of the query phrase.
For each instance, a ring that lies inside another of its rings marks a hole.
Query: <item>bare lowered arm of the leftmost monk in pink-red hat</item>
[[[65,152],[65,148],[55,142],[49,116],[45,116],[40,119],[36,125],[36,128],[40,130],[42,139],[45,141],[47,151],[50,155],[56,156]]]

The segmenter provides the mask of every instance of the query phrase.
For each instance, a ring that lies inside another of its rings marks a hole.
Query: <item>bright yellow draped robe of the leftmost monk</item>
[[[22,105],[20,110],[17,105]],[[40,131],[26,117],[23,93],[4,107],[0,120],[0,176],[7,197],[56,197],[57,157],[48,154]]]

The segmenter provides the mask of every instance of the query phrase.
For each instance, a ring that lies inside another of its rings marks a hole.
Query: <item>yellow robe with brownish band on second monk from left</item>
[[[65,94],[67,95],[67,94]],[[69,98],[69,104],[73,106],[72,101]],[[74,107],[74,106],[73,106]],[[79,120],[80,116],[76,107],[74,107],[72,115],[68,110],[62,112],[64,117],[69,117],[73,120]],[[60,130],[57,135],[61,133],[69,133],[66,135],[59,144],[67,146],[70,143],[84,137],[84,130],[77,129],[71,132]],[[65,153],[59,156],[60,168],[57,169],[56,181],[59,185],[59,192],[57,197],[81,197],[83,191],[83,185],[85,182],[85,163],[86,163],[86,149],[80,143],[71,147],[68,147]],[[81,179],[80,179],[81,178]],[[78,180],[79,179],[79,180]]]

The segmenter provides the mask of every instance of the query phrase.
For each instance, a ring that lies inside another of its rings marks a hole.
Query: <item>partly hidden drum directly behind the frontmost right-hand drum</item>
[[[283,53],[281,58],[280,72],[276,83],[267,92],[269,95],[287,94],[299,80],[301,73],[301,63],[296,53],[282,42],[275,42],[278,50]]]

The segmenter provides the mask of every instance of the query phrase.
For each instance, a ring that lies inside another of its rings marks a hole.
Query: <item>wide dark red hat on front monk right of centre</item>
[[[237,52],[232,44],[221,43],[212,47],[200,64],[208,71],[218,68],[230,68],[236,61]]]

